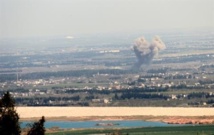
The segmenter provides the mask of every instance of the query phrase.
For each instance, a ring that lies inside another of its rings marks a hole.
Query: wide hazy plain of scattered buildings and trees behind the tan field
[[[210,32],[163,34],[166,49],[140,69],[133,68],[133,37],[105,44],[86,40],[87,46],[59,38],[41,48],[3,49],[0,92],[10,91],[20,106],[212,107],[213,37]]]

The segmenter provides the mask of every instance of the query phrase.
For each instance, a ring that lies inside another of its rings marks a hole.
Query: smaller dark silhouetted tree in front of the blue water
[[[42,116],[42,118],[38,122],[34,122],[27,135],[44,135],[45,134],[44,123],[45,117]]]

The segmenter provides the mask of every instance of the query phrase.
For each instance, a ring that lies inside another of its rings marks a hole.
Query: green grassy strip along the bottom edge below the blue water
[[[87,129],[47,133],[47,135],[105,135],[113,132],[118,132],[122,135],[214,135],[214,125],[145,127],[131,129]]]

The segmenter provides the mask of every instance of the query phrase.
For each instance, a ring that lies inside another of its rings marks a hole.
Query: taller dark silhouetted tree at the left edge
[[[20,135],[19,115],[15,110],[15,100],[9,92],[0,99],[0,134]]]

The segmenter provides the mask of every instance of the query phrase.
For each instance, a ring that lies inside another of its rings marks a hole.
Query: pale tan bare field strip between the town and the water
[[[21,119],[93,116],[214,116],[214,108],[182,107],[17,107]]]

